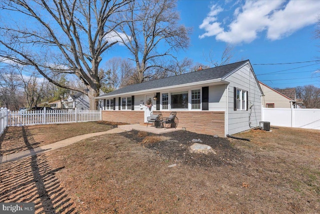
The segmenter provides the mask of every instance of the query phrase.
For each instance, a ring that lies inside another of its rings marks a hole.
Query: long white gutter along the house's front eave
[[[94,99],[104,99],[104,98],[110,98],[110,97],[121,97],[121,96],[127,96],[127,95],[145,94],[145,93],[152,93],[153,91],[175,89],[175,88],[182,88],[182,87],[190,87],[190,86],[204,85],[204,84],[211,84],[211,83],[229,84],[228,81],[225,81],[225,80],[222,80],[221,78],[219,78],[219,79],[214,79],[214,80],[205,80],[205,81],[201,81],[201,82],[187,83],[187,84],[174,85],[174,86],[166,86],[166,87],[161,87],[161,88],[152,88],[152,89],[146,89],[146,90],[141,90],[141,91],[132,91],[132,92],[126,92],[126,93],[122,93],[122,94],[99,96],[99,97],[95,97]]]

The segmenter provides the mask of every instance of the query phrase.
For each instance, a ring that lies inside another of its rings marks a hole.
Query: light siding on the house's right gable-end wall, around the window
[[[227,134],[234,134],[259,126],[259,121],[261,120],[261,92],[254,73],[250,71],[250,66],[246,64],[225,80],[230,82],[228,85]],[[250,108],[247,111],[233,110],[233,87],[248,92],[248,104],[253,104],[251,111]]]

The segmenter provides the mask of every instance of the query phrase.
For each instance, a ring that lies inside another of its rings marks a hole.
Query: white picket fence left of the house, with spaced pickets
[[[0,135],[7,126],[28,126],[41,124],[76,123],[101,120],[100,110],[68,110],[47,111],[45,108],[38,111],[9,111],[0,110]]]

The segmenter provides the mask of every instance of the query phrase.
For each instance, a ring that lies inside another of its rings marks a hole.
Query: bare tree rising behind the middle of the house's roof
[[[129,50],[136,66],[134,76],[141,83],[152,79],[154,68],[166,69],[161,61],[175,58],[175,51],[188,47],[190,29],[178,24],[176,0],[134,1],[127,7],[125,16],[119,17],[125,22],[115,34]]]

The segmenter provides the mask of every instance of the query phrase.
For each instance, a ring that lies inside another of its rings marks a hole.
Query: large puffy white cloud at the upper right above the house
[[[213,5],[199,26],[205,30],[199,38],[215,36],[216,40],[231,44],[250,43],[258,33],[266,31],[267,39],[278,40],[316,23],[319,11],[320,1],[246,1],[234,9],[233,21],[225,30],[218,22],[223,9]]]

